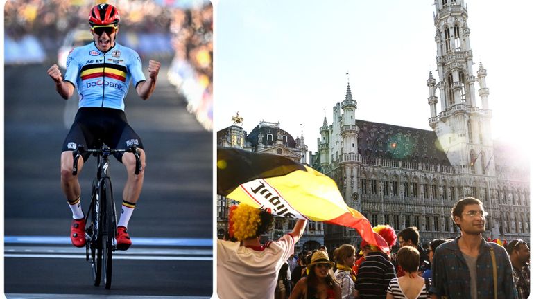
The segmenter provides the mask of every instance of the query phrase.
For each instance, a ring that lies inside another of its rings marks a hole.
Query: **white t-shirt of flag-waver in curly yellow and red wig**
[[[261,251],[217,240],[217,293],[221,299],[274,298],[278,271],[293,254],[295,239],[284,235]]]

